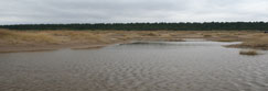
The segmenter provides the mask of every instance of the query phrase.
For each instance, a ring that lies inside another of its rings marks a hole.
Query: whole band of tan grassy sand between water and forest
[[[243,42],[227,47],[268,49],[268,34],[248,31],[9,31],[0,30],[0,53],[92,49],[131,41]]]

